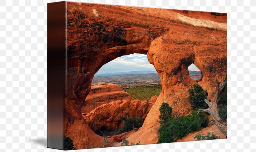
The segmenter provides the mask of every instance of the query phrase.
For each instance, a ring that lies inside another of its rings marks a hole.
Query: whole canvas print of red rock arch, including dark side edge
[[[227,138],[227,15],[47,5],[47,147]]]

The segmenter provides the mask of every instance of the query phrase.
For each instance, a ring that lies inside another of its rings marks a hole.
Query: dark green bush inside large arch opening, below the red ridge
[[[132,130],[131,125],[134,125],[134,127],[139,129],[143,125],[143,122],[144,122],[144,120],[139,117],[131,117],[131,118],[121,117],[121,119],[125,121],[125,124],[119,131],[119,134],[131,131]]]

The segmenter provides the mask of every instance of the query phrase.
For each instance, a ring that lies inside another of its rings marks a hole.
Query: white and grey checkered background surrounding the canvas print
[[[47,149],[47,3],[0,1],[0,151]],[[256,151],[255,0],[88,0],[227,14],[228,139],[111,147],[108,151]]]

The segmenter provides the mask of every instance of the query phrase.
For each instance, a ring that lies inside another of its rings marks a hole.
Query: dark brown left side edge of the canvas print
[[[47,147],[64,150],[66,2],[47,4]]]

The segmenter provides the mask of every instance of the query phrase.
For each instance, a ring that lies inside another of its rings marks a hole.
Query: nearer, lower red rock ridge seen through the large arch
[[[157,97],[157,96],[156,96]],[[94,132],[108,131],[117,133],[124,121],[121,117],[139,117],[145,119],[154,104],[155,97],[149,101],[118,100],[103,104],[89,113],[83,113],[86,124]]]

